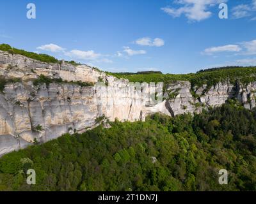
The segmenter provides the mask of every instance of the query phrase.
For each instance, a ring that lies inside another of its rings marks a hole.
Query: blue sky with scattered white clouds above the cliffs
[[[106,71],[256,65],[255,0],[3,0],[0,18],[0,43]]]

